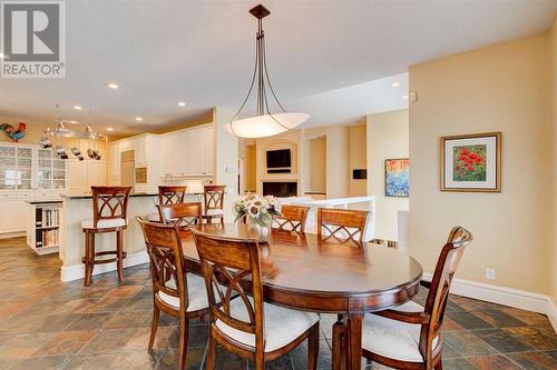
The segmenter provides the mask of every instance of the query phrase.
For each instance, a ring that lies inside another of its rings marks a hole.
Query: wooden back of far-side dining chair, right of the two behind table
[[[317,208],[317,237],[322,240],[351,241],[362,247],[368,214],[368,211],[361,210]],[[328,234],[323,234],[323,229]]]

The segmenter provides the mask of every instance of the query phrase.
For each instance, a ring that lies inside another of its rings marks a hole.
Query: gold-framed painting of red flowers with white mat
[[[441,191],[501,191],[501,132],[441,138]]]

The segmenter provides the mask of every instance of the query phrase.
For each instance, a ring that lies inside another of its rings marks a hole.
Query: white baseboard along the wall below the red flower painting
[[[423,280],[431,278],[432,273],[423,273]],[[465,279],[452,279],[451,293],[547,314],[557,332],[557,308],[549,296]]]

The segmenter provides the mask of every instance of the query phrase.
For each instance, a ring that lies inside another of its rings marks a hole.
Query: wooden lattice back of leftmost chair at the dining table
[[[186,267],[178,224],[149,222],[139,216],[136,220],[141,227],[149,254],[153,293],[157,297],[162,291],[178,298],[180,309],[186,310],[188,307]]]

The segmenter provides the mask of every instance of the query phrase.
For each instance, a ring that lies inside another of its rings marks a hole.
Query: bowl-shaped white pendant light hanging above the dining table
[[[257,7],[250,10],[250,12],[257,18],[257,34],[255,38],[255,67],[252,77],[252,84],[247,91],[247,96],[244,102],[240,107],[238,111],[232,118],[232,121],[224,126],[224,129],[238,137],[245,139],[253,138],[265,138],[273,134],[282,133],[289,131],[303,122],[305,122],[310,114],[307,113],[293,113],[286,112],[276,98],[276,94],[268,78],[266,56],[265,56],[265,32],[263,31],[263,18],[271,14],[271,12],[258,4]],[[241,118],[240,114],[244,109],[245,104],[250,100],[252,92],[254,90],[255,83],[257,83],[257,96],[256,96],[256,112],[257,116]],[[268,88],[268,91],[267,91]],[[268,107],[268,100],[274,99],[280,109],[278,112],[272,113]]]

